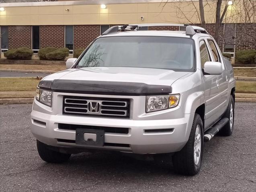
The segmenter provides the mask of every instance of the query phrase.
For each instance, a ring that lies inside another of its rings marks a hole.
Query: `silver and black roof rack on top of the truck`
[[[192,37],[193,35],[195,35],[196,33],[205,33],[208,34],[208,32],[202,28],[202,27],[198,27],[198,26],[191,26],[188,24],[125,24],[123,26],[113,26],[111,28],[109,28],[108,30],[106,30],[102,35],[106,35],[106,34],[110,34],[113,32],[118,32],[118,31],[137,31],[139,29],[139,27],[149,27],[149,26],[182,26],[182,27],[186,27],[186,35],[189,35],[190,37]]]

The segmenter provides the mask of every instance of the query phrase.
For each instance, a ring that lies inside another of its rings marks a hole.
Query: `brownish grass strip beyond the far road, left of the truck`
[[[51,70],[62,71],[66,69],[65,65],[6,65],[1,64],[0,69],[27,69],[27,70]]]

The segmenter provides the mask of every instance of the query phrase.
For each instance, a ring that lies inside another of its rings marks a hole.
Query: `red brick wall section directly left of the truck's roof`
[[[74,25],[74,50],[86,48],[100,35],[100,25]]]

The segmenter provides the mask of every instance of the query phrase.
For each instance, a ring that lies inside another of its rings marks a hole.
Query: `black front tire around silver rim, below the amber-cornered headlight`
[[[194,160],[195,132],[197,125],[201,131],[201,152],[199,162],[196,164]],[[199,114],[195,114],[188,142],[180,150],[172,156],[174,172],[182,175],[195,175],[199,172],[203,157],[203,122]]]

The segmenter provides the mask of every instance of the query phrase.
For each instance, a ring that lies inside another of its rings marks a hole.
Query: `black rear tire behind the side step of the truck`
[[[232,120],[231,120],[231,116],[230,116],[230,109],[231,109],[231,106],[233,108],[232,112]],[[225,111],[223,117],[226,117],[229,119],[229,122],[227,122],[227,124],[225,124],[225,126],[223,128],[221,128],[221,130],[219,131],[219,135],[222,135],[222,136],[231,136],[232,133],[233,133],[233,129],[234,129],[234,115],[235,115],[235,102],[234,102],[234,98],[233,96],[231,95],[230,98],[229,98],[229,103],[228,103],[228,106],[227,106],[227,110]],[[232,125],[230,126],[230,122],[232,121]]]

